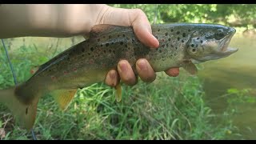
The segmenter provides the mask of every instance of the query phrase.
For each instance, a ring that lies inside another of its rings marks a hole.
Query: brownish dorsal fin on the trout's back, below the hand
[[[90,30],[90,38],[99,37],[103,34],[110,33],[113,30],[125,30],[125,27],[128,28],[127,26],[115,26],[108,24],[95,25]]]

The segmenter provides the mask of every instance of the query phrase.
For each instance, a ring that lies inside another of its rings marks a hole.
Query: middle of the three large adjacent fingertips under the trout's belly
[[[126,60],[118,62],[118,74],[120,75],[122,82],[126,83],[126,85],[134,86],[137,83],[134,71],[132,70],[130,63]]]

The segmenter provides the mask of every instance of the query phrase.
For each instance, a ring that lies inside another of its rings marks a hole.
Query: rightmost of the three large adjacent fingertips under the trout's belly
[[[153,68],[146,59],[138,59],[136,62],[136,69],[140,78],[144,82],[153,82],[156,78]]]

